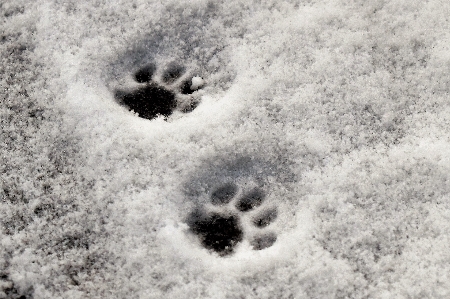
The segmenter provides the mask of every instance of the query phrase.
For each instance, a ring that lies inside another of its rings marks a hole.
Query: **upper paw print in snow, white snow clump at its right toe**
[[[129,89],[116,90],[115,98],[145,119],[159,115],[167,118],[175,110],[184,113],[194,110],[199,103],[195,93],[205,85],[201,77],[175,62],[162,72],[158,72],[155,63],[144,65],[134,72],[133,81]]]

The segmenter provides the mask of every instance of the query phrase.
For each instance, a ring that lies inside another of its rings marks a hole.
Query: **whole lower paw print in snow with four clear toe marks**
[[[223,184],[212,191],[207,204],[190,213],[187,224],[203,247],[220,256],[232,254],[243,240],[253,250],[262,250],[277,240],[270,230],[277,209],[264,207],[265,199],[260,187],[242,191],[234,183]]]

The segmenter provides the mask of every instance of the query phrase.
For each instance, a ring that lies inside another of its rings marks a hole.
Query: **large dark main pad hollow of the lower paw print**
[[[203,246],[219,255],[230,254],[242,240],[242,229],[235,215],[205,213],[196,210],[188,217],[191,230],[200,238]]]

